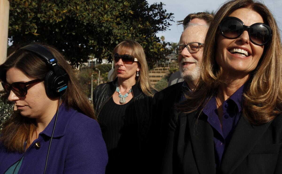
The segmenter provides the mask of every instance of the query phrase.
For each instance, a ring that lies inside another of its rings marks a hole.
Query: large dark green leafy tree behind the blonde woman
[[[33,41],[53,45],[75,65],[89,55],[111,61],[116,44],[132,39],[142,45],[153,65],[169,54],[169,43],[156,36],[173,21],[173,14],[163,7],[144,0],[14,0],[8,37],[15,45]]]

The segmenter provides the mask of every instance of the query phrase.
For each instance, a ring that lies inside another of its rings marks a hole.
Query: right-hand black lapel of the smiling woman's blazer
[[[253,126],[241,114],[230,143],[221,160],[220,168],[222,173],[233,173],[263,136],[270,123]]]

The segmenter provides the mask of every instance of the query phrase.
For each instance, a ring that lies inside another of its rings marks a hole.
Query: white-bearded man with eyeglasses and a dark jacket
[[[154,160],[159,169],[166,145],[168,122],[176,112],[174,106],[184,101],[189,92],[193,92],[199,79],[204,39],[208,30],[207,24],[201,24],[191,21],[180,37],[180,44],[174,48],[175,54],[178,55],[180,75],[184,81],[165,88],[153,97],[151,118],[155,139],[151,140],[151,144],[155,145]]]

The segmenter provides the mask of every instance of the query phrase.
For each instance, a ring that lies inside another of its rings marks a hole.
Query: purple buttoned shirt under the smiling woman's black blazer
[[[225,147],[228,146],[236,124],[241,115],[241,101],[244,91],[245,83],[241,86],[228,100],[223,102],[222,105],[222,126],[220,124],[215,96],[211,98],[203,113],[208,116],[208,123],[213,128],[213,142],[215,149],[215,163],[217,169],[220,166],[222,155],[224,154]]]

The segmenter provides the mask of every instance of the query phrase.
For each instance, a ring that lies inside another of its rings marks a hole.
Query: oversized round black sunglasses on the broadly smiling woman
[[[246,30],[250,41],[256,45],[265,45],[272,36],[272,29],[264,23],[254,23],[246,26],[243,21],[235,17],[226,17],[219,24],[221,35],[228,39],[236,39]]]

